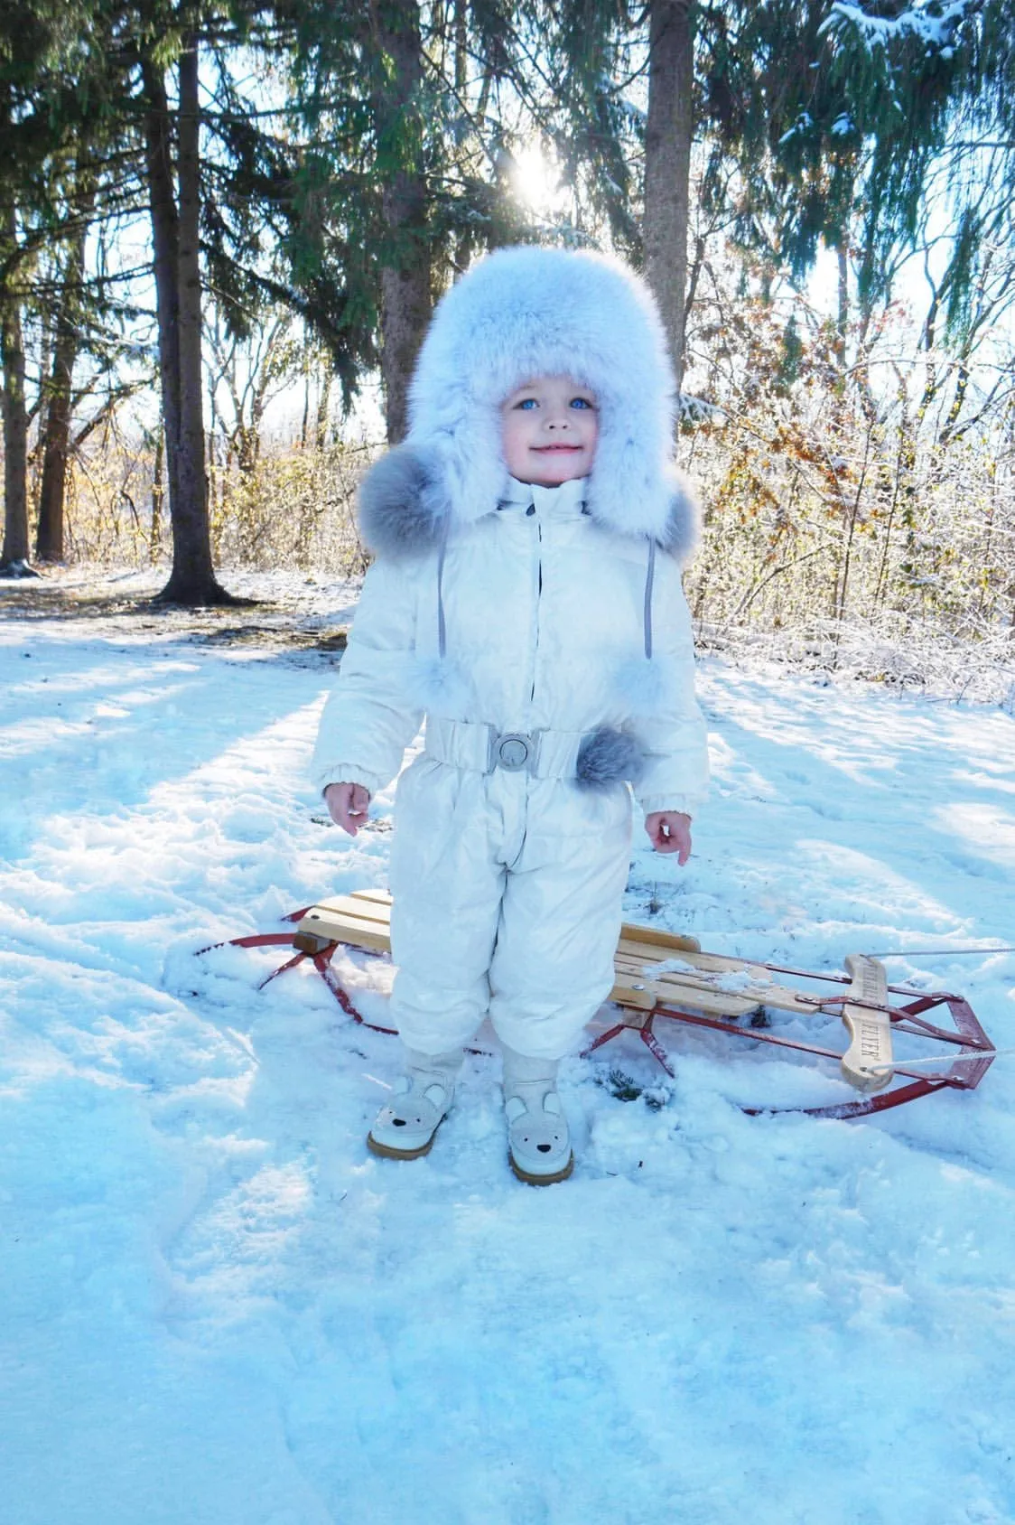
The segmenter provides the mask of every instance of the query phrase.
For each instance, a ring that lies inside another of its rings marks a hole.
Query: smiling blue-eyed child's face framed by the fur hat
[[[588,476],[599,438],[596,396],[573,377],[536,377],[501,403],[500,438],[520,482],[558,486]]]

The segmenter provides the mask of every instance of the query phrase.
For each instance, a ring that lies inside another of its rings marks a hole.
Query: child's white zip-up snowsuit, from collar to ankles
[[[619,683],[640,659],[646,546],[596,526],[584,488],[512,482],[509,500],[447,549],[447,648],[466,657],[468,688],[434,700],[425,749],[399,779],[390,866],[392,1013],[424,1054],[466,1043],[489,1011],[515,1052],[559,1058],[613,985],[631,801],[620,781],[581,788],[575,758],[622,708]],[[680,569],[668,557],[652,625],[671,700],[639,720],[639,801],[646,813],[690,813],[704,791],[704,726]],[[407,697],[415,659],[434,656],[436,639],[434,557],[376,561],[322,721],[322,788],[351,781],[376,793],[398,772],[422,720]],[[479,721],[497,734],[543,730],[536,776],[488,772]]]

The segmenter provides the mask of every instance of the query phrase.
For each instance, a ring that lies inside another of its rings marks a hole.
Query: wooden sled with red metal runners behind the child
[[[393,1032],[393,1028],[363,1017],[332,968],[332,958],[340,947],[390,955],[390,897],[381,891],[355,891],[293,912],[285,918],[293,924],[290,932],[232,938],[229,946],[293,949],[293,956],[273,970],[259,988],[309,961],[349,1017],[378,1032]],[[200,952],[207,953],[210,949]],[[860,1118],[936,1090],[975,1090],[995,1054],[962,996],[916,993],[905,985],[890,985],[884,965],[860,953],[846,958],[844,974],[815,973],[704,953],[695,938],[625,921],[614,955],[610,1000],[619,1008],[617,1020],[593,1035],[584,1055],[596,1052],[623,1032],[634,1032],[672,1077],[671,1057],[657,1025],[675,1022],[750,1043],[835,1060],[841,1078],[857,1092],[855,1100],[815,1107],[745,1106],[742,1110],[751,1116],[764,1112],[803,1112],[815,1118]],[[951,1026],[928,1022],[928,1011],[942,1017],[946,1014]],[[844,1049],[809,1042],[794,1031],[799,1023],[812,1026],[817,1017],[828,1016],[841,1020],[847,1040]],[[783,1031],[779,1031],[779,1025]],[[916,1061],[898,1058],[893,1045],[896,1034],[945,1045],[940,1069],[927,1072],[928,1061],[922,1057]]]

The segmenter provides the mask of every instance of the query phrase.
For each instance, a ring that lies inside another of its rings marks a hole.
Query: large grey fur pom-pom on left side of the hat
[[[375,555],[407,560],[436,551],[447,506],[436,458],[413,445],[396,445],[370,467],[360,483],[360,529]]]

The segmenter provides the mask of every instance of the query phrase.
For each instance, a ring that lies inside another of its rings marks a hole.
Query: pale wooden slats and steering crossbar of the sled
[[[370,953],[390,953],[390,895],[354,891],[311,906],[299,921],[294,946],[320,953],[344,942]],[[849,1032],[841,1058],[843,1078],[858,1090],[881,1090],[892,1080],[892,1022],[884,1008],[887,981],[875,959],[850,956],[852,976],[838,1013]],[[695,938],[625,921],[614,955],[610,999],[623,1011],[623,1026],[646,1029],[655,1013],[719,1017],[754,1016],[765,1008],[812,1019],[820,1010],[814,994],[782,985],[765,964],[703,953]],[[613,1031],[613,1029],[611,1029]]]

